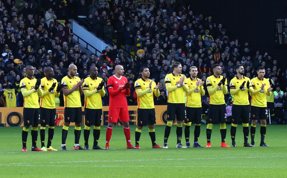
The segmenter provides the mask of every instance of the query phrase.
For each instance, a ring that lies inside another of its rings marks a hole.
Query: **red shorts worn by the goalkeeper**
[[[118,118],[121,122],[130,121],[129,110],[127,107],[122,108],[109,108],[109,118],[108,122],[118,122]]]

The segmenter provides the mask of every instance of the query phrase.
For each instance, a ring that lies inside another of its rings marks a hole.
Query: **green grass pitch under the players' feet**
[[[91,127],[92,128],[92,127]],[[106,126],[101,127],[99,145],[105,146]],[[131,142],[134,131],[131,126]],[[171,128],[168,149],[152,149],[148,127],[144,127],[140,139],[142,149],[127,150],[121,126],[113,128],[110,150],[73,150],[74,128],[69,128],[67,148],[60,151],[62,127],[55,127],[52,146],[59,151],[31,152],[31,127],[27,141],[27,153],[22,153],[22,127],[0,127],[1,177],[286,177],[287,127],[268,125],[265,142],[270,147],[259,147],[260,126],[256,128],[256,147],[242,147],[242,126],[237,127],[236,148],[221,148],[219,125],[212,128],[212,148],[178,149],[176,126]],[[163,145],[165,126],[156,125],[157,143]],[[193,129],[190,140],[193,142]],[[40,130],[40,127],[39,127]],[[40,147],[40,131],[38,143]],[[184,130],[184,126],[183,126]],[[46,129],[47,144],[48,127]],[[249,141],[250,142],[250,141]],[[93,143],[92,129],[89,138]],[[183,133],[183,145],[185,145]],[[199,143],[206,146],[206,125],[201,126]],[[227,125],[226,143],[231,146],[230,125]],[[83,127],[80,145],[84,146]]]

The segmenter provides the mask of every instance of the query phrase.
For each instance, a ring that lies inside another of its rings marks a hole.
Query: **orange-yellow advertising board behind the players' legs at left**
[[[129,106],[130,125],[137,125],[137,106]],[[107,125],[109,107],[103,107],[102,123]],[[157,124],[166,124],[166,105],[155,106]],[[39,118],[40,119],[40,118]],[[64,124],[64,107],[56,107],[56,125],[62,126]],[[84,107],[82,107],[82,125],[84,125]],[[176,123],[176,121],[174,122]],[[121,122],[118,122],[122,125]],[[74,125],[74,123],[71,123]],[[23,126],[23,108],[22,107],[2,107],[0,108],[0,127],[20,127]],[[39,125],[40,126],[40,125]]]

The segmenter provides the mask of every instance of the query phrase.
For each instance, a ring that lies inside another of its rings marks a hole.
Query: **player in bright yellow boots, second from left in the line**
[[[56,119],[56,105],[55,97],[59,97],[61,86],[58,87],[58,82],[53,78],[54,70],[51,67],[45,68],[46,77],[41,79],[41,88],[43,95],[40,96],[40,138],[41,150],[43,151],[57,151],[51,147],[51,142],[54,136],[55,119]],[[56,91],[54,89],[57,89]],[[45,147],[45,129],[48,125],[48,144]]]

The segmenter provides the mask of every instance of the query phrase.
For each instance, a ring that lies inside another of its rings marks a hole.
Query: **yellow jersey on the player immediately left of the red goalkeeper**
[[[96,77],[95,80],[91,77],[87,77],[83,82],[83,90],[92,91],[94,89],[97,89],[102,81],[103,79],[100,77]],[[103,105],[100,92],[96,92],[89,97],[85,97],[85,107],[89,109],[102,109]]]

